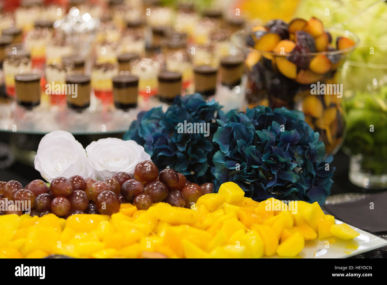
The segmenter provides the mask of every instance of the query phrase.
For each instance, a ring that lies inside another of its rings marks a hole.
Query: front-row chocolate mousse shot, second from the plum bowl
[[[214,95],[216,92],[217,68],[209,65],[197,66],[195,73],[195,92],[204,97]]]

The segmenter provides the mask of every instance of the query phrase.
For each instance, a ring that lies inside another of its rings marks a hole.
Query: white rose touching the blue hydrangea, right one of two
[[[144,147],[134,140],[119,138],[101,138],[92,142],[86,147],[86,154],[99,180],[110,178],[120,171],[133,175],[139,162],[151,160]]]

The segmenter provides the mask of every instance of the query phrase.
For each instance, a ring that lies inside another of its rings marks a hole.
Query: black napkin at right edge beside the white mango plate
[[[368,194],[365,199],[354,202],[325,204],[324,208],[336,219],[361,230],[387,231],[387,191]]]

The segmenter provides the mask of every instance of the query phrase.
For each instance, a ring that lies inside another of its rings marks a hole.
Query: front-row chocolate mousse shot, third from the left
[[[112,78],[114,105],[117,109],[128,110],[137,107],[139,77],[120,74]]]

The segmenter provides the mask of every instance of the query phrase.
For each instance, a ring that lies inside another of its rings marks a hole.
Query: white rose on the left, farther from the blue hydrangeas
[[[84,148],[67,131],[52,131],[43,136],[34,164],[48,182],[57,177],[70,178],[73,175],[95,178]]]

